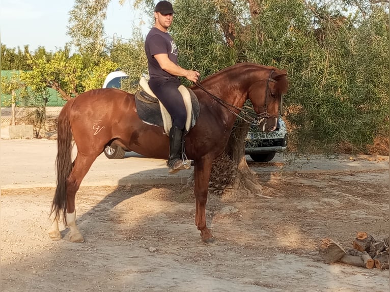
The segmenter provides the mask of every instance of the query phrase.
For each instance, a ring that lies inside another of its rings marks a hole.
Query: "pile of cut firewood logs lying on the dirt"
[[[368,269],[388,269],[388,240],[387,237],[379,241],[367,232],[357,232],[353,248],[348,251],[328,238],[322,240],[319,251],[327,264],[340,261]]]

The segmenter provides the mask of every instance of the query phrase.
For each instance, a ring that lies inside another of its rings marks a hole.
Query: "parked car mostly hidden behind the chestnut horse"
[[[103,88],[115,87],[120,89],[122,80],[129,78],[122,71],[114,71],[107,75]],[[251,125],[245,139],[245,154],[254,161],[268,162],[273,159],[277,152],[283,152],[287,148],[287,128],[282,118],[278,118],[277,127],[272,132],[262,132],[256,126]],[[109,159],[120,159],[126,151],[118,145],[107,145],[104,154]]]

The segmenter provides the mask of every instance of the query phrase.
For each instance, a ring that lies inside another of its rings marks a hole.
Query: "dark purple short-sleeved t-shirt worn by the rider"
[[[154,55],[168,54],[169,59],[177,65],[177,47],[168,33],[161,32],[152,27],[145,39],[145,53],[148,58],[148,70],[150,78],[173,76],[161,69]]]

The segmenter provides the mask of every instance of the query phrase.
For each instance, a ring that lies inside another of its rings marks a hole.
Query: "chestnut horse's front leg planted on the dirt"
[[[213,235],[206,226],[206,202],[210,180],[212,160],[203,159],[195,161],[195,198],[196,198],[196,213],[195,224],[198,230],[201,231],[202,240],[206,243],[214,242]]]

